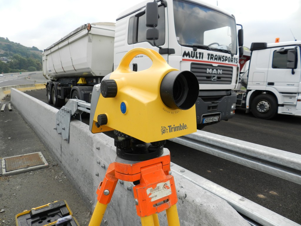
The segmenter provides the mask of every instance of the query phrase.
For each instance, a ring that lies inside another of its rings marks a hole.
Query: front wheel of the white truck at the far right
[[[277,110],[277,101],[269,94],[260,94],[251,103],[251,111],[256,118],[271,119],[277,114]]]

